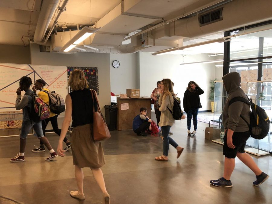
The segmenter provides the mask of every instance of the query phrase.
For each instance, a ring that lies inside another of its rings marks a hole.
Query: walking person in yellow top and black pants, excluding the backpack
[[[34,92],[36,92],[37,90],[39,90],[40,92],[38,92],[38,96],[45,102],[47,103],[47,105],[49,105],[49,96],[46,92],[50,92],[49,89],[45,89],[45,81],[43,79],[37,79],[34,83],[34,86],[32,87],[32,90]],[[50,109],[49,109],[50,110]],[[48,125],[49,121],[51,121],[51,125],[52,128],[54,130],[54,132],[60,136],[60,129],[58,128],[58,121],[57,121],[58,115],[56,113],[52,113],[50,111],[50,116],[49,118],[46,118],[45,120],[41,121],[42,122],[42,128],[43,128],[43,134],[45,136],[45,129],[46,126]],[[64,151],[68,151],[71,149],[71,144],[69,142],[69,140],[65,137],[63,140],[66,143],[66,148],[64,149]],[[36,146],[37,147],[37,146]],[[32,150],[33,152],[44,152],[45,148],[44,148],[44,143],[42,141],[40,141],[40,147],[37,147],[35,149]]]

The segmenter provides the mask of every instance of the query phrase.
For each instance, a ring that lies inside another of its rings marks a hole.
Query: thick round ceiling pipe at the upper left
[[[35,29],[35,34],[33,37],[34,42],[42,42],[48,25],[54,15],[55,9],[57,7],[59,0],[47,0],[43,1],[40,9],[40,15],[37,21],[37,26]]]

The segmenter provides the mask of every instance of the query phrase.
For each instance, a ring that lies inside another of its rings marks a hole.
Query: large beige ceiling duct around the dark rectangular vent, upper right
[[[171,23],[172,25],[174,24],[174,35],[196,38],[219,31],[229,31],[235,28],[241,28],[247,25],[261,23],[263,21],[272,19],[271,0],[265,0],[261,3],[255,0],[231,1],[220,7],[223,7],[222,21],[200,27],[198,15],[190,18],[179,19]]]

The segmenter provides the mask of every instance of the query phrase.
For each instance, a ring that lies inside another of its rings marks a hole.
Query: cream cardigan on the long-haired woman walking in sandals
[[[173,118],[173,115],[170,113],[168,108],[173,112],[173,106],[174,106],[174,99],[173,96],[166,96],[165,98],[163,97],[164,94],[160,94],[159,98],[159,111],[161,112],[160,115],[160,122],[159,126],[166,126],[166,125],[174,125],[175,119]],[[164,98],[164,99],[163,99]],[[168,106],[168,108],[167,108]]]

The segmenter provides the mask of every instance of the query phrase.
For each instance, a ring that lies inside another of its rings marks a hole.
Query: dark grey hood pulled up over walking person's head
[[[241,77],[238,72],[231,72],[222,77],[226,91],[232,92],[241,86]]]

